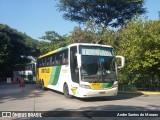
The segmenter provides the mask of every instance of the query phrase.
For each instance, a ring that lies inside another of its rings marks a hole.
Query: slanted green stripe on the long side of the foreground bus
[[[51,77],[49,80],[50,85],[56,85],[59,79],[59,74],[61,71],[61,66],[55,66],[52,68]]]

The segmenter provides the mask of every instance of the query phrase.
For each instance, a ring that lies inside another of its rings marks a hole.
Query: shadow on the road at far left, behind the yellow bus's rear
[[[43,92],[36,84],[26,84],[25,87],[19,87],[18,84],[1,84],[0,85],[0,103],[5,100],[23,100],[42,96]]]

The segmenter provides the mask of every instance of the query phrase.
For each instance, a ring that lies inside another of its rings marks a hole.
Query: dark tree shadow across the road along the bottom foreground
[[[105,106],[98,106],[98,107],[82,107],[78,110],[66,110],[63,108],[58,108],[58,109],[54,109],[52,111],[46,111],[46,112],[42,112],[42,116],[43,117],[64,117],[64,118],[69,118],[69,117],[84,117],[84,118],[88,118],[88,119],[93,119],[95,120],[95,118],[101,118],[101,119],[108,119],[108,118],[112,118],[110,120],[119,120],[119,117],[117,117],[117,114],[127,114],[127,116],[130,114],[135,115],[130,116],[130,117],[123,117],[121,116],[120,118],[123,118],[121,120],[133,120],[133,118],[137,119],[137,120],[142,120],[142,119],[146,119],[146,120],[150,120],[150,119],[154,119],[156,117],[140,117],[140,114],[143,113],[149,113],[149,114],[159,114],[160,112],[155,112],[155,111],[151,111],[148,110],[145,107],[139,107],[139,106],[121,106],[121,105],[105,105]],[[138,116],[139,115],[139,116]],[[140,118],[139,118],[140,117]],[[114,119],[113,119],[114,118]],[[157,117],[159,118],[159,117]],[[99,120],[99,119],[98,119]],[[159,120],[159,119],[157,119]]]

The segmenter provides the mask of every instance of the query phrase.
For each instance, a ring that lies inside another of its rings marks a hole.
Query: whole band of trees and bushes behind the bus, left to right
[[[0,76],[11,73],[13,65],[25,63],[27,56],[37,57],[71,43],[101,43],[111,45],[116,55],[125,57],[125,67],[119,71],[123,84],[143,81],[144,88],[160,79],[160,20],[147,21],[134,18],[117,31],[95,26],[88,21],[82,30],[75,27],[70,36],[47,31],[36,41],[15,29],[0,24]],[[23,57],[22,57],[23,56]],[[152,86],[151,86],[152,87]]]

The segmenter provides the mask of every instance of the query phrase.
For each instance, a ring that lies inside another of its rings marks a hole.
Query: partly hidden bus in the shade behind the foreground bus
[[[36,62],[16,64],[13,69],[13,79],[19,82],[22,77],[26,83],[36,83],[35,70]]]

